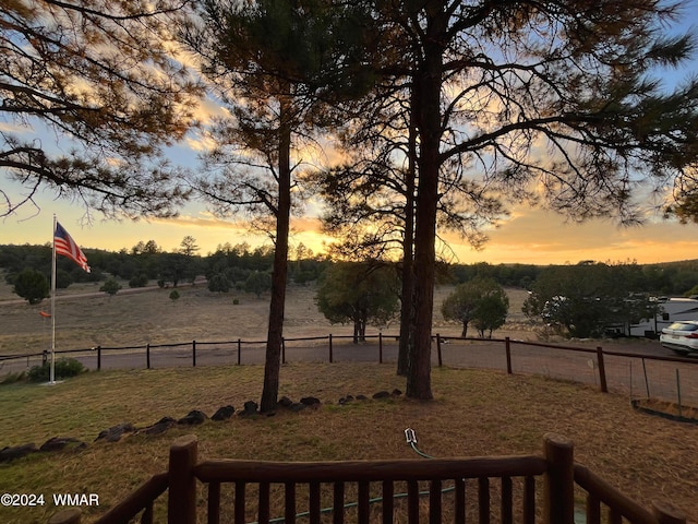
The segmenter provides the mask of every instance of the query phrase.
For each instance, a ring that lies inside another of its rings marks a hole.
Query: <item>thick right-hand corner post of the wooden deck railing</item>
[[[575,522],[575,457],[571,441],[555,433],[543,438],[547,472],[544,476],[543,522]]]

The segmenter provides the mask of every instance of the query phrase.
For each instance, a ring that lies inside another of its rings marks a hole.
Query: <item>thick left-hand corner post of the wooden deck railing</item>
[[[195,434],[185,434],[172,442],[167,502],[168,524],[196,524],[196,460]]]

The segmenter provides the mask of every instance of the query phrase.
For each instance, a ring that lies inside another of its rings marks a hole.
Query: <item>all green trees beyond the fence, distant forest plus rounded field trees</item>
[[[232,289],[257,297],[272,289],[274,249],[252,249],[248,243],[219,245],[205,257],[197,254],[193,237],[184,237],[173,252],[165,252],[155,240],[139,242],[119,252],[85,250],[92,273],[70,260],[57,261],[57,287],[74,282],[106,281],[99,288],[115,295],[117,281],[131,287],[157,282],[173,287],[203,275],[212,293]],[[14,291],[29,303],[49,296],[50,245],[0,246],[0,269]],[[398,317],[401,262],[332,262],[315,255],[302,243],[292,250],[287,283],[318,282],[317,306],[333,323],[350,323],[354,340],[365,336],[368,324],[385,325]],[[570,336],[601,336],[610,326],[629,326],[649,319],[661,308],[655,297],[698,294],[698,260],[640,265],[635,262],[582,261],[565,265],[440,264],[441,284],[456,288],[442,306],[446,320],[469,323],[480,336],[492,335],[508,312],[503,287],[530,291],[524,312]]]

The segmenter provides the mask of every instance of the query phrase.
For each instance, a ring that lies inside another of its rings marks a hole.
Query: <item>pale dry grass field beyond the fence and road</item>
[[[128,287],[124,284],[124,288]],[[97,293],[93,297],[75,294],[95,293],[98,285],[80,284],[58,291],[57,340],[58,349],[82,349],[95,346],[119,347],[131,345],[183,343],[189,341],[262,340],[266,334],[268,298],[256,298],[242,291],[213,294],[205,286],[184,285],[178,288],[180,298],[169,298],[171,289],[147,293],[120,291],[113,297]],[[453,290],[441,286],[435,293],[434,326],[443,334],[458,335],[460,326],[445,322],[440,305]],[[290,286],[284,333],[287,337],[327,335],[341,326],[333,326],[317,311],[314,286]],[[524,315],[520,306],[526,296],[521,289],[509,289],[512,301],[508,325],[496,336],[512,334],[530,337],[521,331]],[[10,286],[0,281],[0,355],[40,353],[50,347],[50,320],[39,315],[49,311],[48,301],[36,306],[16,302]],[[239,305],[233,305],[233,299]],[[9,303],[12,301],[13,303]],[[3,303],[4,302],[4,303]],[[344,331],[350,334],[350,329]],[[396,322],[385,331],[397,332]]]

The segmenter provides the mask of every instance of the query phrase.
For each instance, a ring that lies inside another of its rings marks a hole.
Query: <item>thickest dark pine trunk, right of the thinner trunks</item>
[[[406,395],[431,400],[431,337],[436,263],[436,209],[441,167],[442,53],[448,16],[441,2],[426,4],[424,59],[416,73],[412,108],[420,135],[419,186],[414,228],[414,347],[411,350]]]

